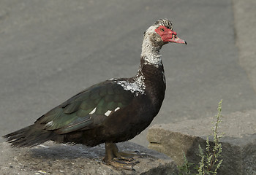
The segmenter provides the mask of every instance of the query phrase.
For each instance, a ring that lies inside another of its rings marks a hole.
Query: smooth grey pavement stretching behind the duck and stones
[[[241,54],[255,44],[239,42],[256,26],[241,27],[256,13],[246,1],[1,0],[0,135],[94,83],[135,75],[143,31],[159,18],[188,44],[162,49],[167,92],[153,124],[211,116],[220,99],[224,114],[255,109],[255,52]],[[147,146],[146,131],[132,141]]]

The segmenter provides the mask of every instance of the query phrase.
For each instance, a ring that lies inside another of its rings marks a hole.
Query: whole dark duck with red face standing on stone
[[[105,143],[103,161],[130,169],[136,154],[118,152],[117,142],[134,138],[148,127],[165,97],[165,71],[159,50],[179,39],[170,20],[157,20],[144,33],[140,68],[135,77],[114,78],[93,85],[39,117],[33,125],[4,138],[13,147],[34,147],[45,141]],[[129,163],[131,162],[131,163]]]

